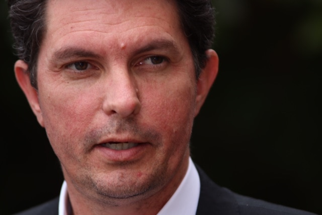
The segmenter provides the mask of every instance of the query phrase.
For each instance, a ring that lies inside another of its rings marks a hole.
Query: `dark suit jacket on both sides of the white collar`
[[[199,167],[197,170],[201,187],[196,215],[314,215],[236,194],[216,185]],[[58,215],[58,198],[16,215]]]

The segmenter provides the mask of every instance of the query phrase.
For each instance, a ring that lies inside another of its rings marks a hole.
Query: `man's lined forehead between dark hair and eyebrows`
[[[46,27],[46,36],[56,39],[70,33],[87,33],[88,37],[118,34],[122,38],[137,31],[142,35],[133,36],[143,37],[144,31],[182,31],[175,1],[166,0],[49,0]]]

